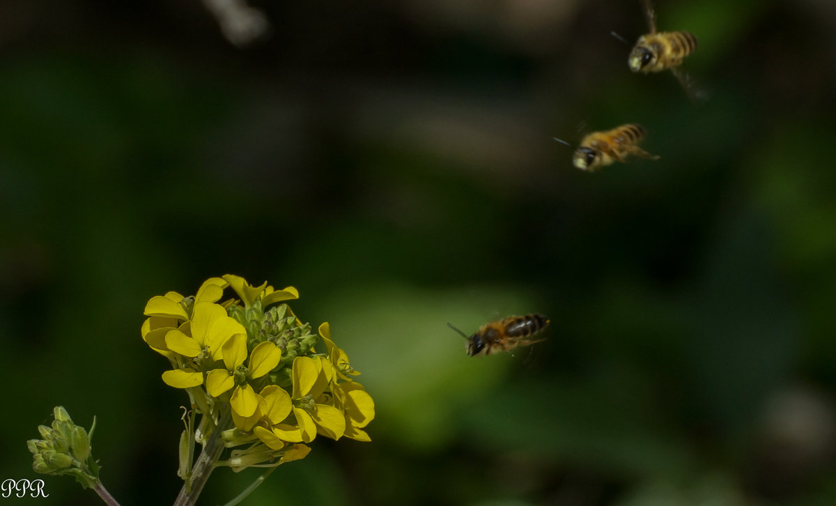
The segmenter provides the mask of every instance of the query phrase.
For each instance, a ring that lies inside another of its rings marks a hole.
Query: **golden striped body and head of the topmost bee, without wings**
[[[690,32],[651,32],[635,43],[627,64],[633,72],[648,74],[674,69],[696,49],[696,37]]]

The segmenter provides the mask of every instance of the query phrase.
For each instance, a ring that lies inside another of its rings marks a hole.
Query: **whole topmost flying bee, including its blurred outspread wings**
[[[670,69],[692,100],[702,99],[681,69],[686,56],[696,49],[696,37],[691,32],[657,32],[656,16],[650,0],[641,0],[650,33],[642,35],[630,51],[627,64],[633,72],[648,74]]]

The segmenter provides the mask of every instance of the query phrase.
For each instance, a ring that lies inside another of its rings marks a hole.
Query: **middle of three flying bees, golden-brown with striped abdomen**
[[[617,126],[613,130],[593,132],[580,141],[574,152],[573,164],[582,171],[597,171],[614,161],[623,163],[630,155],[658,160],[659,156],[651,155],[637,146],[644,137],[645,129],[635,123]],[[557,137],[554,140],[571,146]]]

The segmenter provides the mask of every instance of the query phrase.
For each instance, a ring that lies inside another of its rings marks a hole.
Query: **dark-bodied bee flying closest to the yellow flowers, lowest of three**
[[[500,351],[510,351],[517,346],[527,346],[538,343],[543,339],[533,340],[533,335],[548,326],[549,320],[543,314],[526,314],[525,316],[508,316],[492,321],[468,337],[461,330],[451,324],[467,340],[465,349],[468,356],[493,355]]]

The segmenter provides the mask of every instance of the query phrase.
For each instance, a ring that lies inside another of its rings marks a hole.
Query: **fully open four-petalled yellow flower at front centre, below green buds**
[[[252,417],[258,407],[258,396],[252,390],[250,382],[272,371],[282,359],[282,350],[269,341],[257,345],[247,360],[247,335],[233,335],[222,346],[223,364],[226,369],[214,369],[206,375],[206,392],[217,397],[233,387],[229,403],[232,411],[239,417]]]

